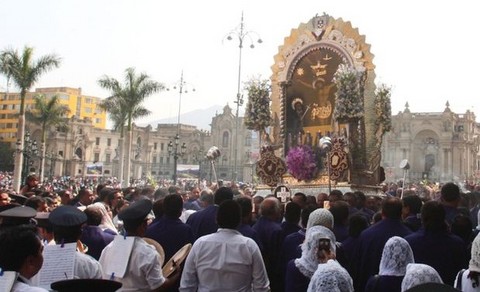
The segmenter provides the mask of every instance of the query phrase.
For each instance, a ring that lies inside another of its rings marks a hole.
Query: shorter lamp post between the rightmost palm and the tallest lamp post
[[[177,184],[177,162],[178,158],[182,157],[187,152],[187,145],[182,143],[180,147],[180,152],[178,145],[180,144],[180,114],[182,109],[182,94],[188,93],[187,86],[189,84],[183,79],[183,70],[180,75],[180,81],[173,86],[173,89],[178,88],[178,118],[177,118],[177,134],[175,135],[174,142],[170,141],[167,146],[168,155],[173,156],[173,184]],[[170,90],[170,89],[167,89]],[[195,88],[192,88],[192,91],[195,91]]]

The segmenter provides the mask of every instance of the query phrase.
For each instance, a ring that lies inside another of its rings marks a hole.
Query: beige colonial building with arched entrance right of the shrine
[[[480,169],[480,125],[475,114],[453,113],[447,102],[443,112],[412,113],[392,117],[393,129],[384,137],[382,165],[386,180],[407,182],[476,181]],[[408,161],[409,169],[399,167]]]

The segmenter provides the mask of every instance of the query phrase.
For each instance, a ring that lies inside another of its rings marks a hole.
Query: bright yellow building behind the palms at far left
[[[34,97],[44,95],[49,98],[58,96],[60,104],[66,105],[70,112],[68,118],[90,119],[95,128],[105,129],[107,114],[99,107],[101,98],[82,94],[81,88],[48,87],[37,88],[27,93],[25,111],[33,109]],[[0,92],[0,141],[17,141],[18,113],[20,111],[20,93]],[[28,124],[28,123],[27,123]]]

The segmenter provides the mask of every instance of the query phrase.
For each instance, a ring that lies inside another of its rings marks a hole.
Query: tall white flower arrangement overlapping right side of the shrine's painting
[[[338,67],[333,79],[337,86],[333,110],[335,120],[342,122],[363,117],[364,73],[344,64]]]

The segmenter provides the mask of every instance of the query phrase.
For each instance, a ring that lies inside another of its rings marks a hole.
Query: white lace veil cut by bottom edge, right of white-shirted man
[[[353,281],[347,270],[337,261],[329,260],[325,264],[319,264],[313,274],[308,292],[351,292]]]

